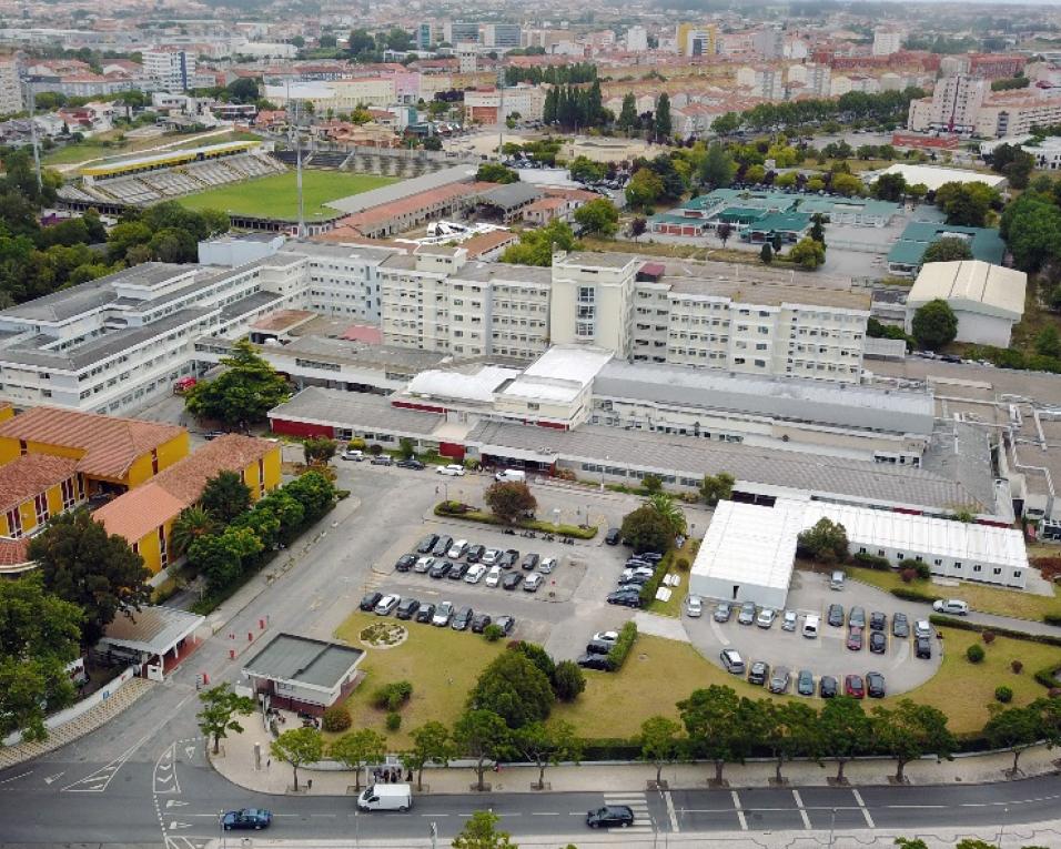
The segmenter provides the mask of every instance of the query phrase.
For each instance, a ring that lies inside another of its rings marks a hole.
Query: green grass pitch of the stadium
[[[370,189],[378,189],[381,185],[390,185],[394,182],[397,182],[394,178],[374,174],[303,171],[302,192],[305,198],[306,221],[312,221],[315,215],[334,213],[335,210],[324,206],[329,201],[367,192]],[[299,195],[295,193],[294,171],[249,180],[245,183],[221,185],[179,200],[191,210],[213,209],[292,221],[299,218]]]

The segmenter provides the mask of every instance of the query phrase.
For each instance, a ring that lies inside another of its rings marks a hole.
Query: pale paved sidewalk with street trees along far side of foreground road
[[[245,728],[243,734],[222,741],[223,756],[211,758],[214,768],[233,784],[249,790],[286,794],[292,784],[291,767],[275,759],[266,766],[270,736],[262,727],[261,718],[247,719]],[[262,746],[261,770],[254,769],[255,742]],[[1057,755],[1045,747],[1024,751],[1020,758],[1023,777],[1055,772],[1059,768]],[[911,785],[987,784],[1006,780],[1012,762],[1013,756],[1009,752],[971,755],[942,762],[926,758],[909,764],[906,774]],[[723,777],[735,789],[770,787],[774,767],[774,761],[727,764]],[[823,766],[812,761],[796,761],[786,764],[782,775],[794,787],[826,787],[836,771],[832,761],[825,761]],[[887,786],[895,771],[895,761],[870,758],[848,764],[843,774],[852,785]],[[710,764],[675,764],[663,770],[663,778],[671,790],[705,789],[707,780],[714,775],[715,768]],[[535,792],[530,785],[537,781],[537,768],[532,765],[504,765],[501,771],[488,772],[485,780],[491,785],[491,792],[525,794]],[[545,780],[553,792],[644,791],[647,782],[655,777],[656,769],[650,764],[570,765],[549,767],[545,772]],[[313,780],[313,789],[309,792],[314,796],[346,796],[353,792],[353,772],[301,768],[300,786],[305,779]],[[425,769],[424,792],[467,794],[475,780],[475,770],[471,767]],[[1057,845],[1061,845],[1061,841]]]

